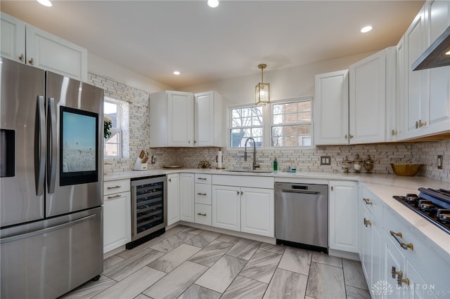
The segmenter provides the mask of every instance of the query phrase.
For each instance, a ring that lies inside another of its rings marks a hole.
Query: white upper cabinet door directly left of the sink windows
[[[214,146],[214,92],[196,93],[194,105],[194,145]]]

